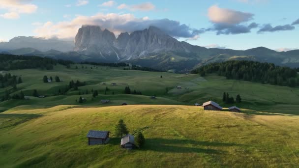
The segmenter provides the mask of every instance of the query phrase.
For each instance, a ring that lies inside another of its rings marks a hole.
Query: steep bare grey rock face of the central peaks
[[[98,26],[83,26],[75,37],[75,51],[103,57],[116,55],[117,59],[134,59],[150,53],[166,51],[189,52],[191,45],[179,42],[160,29],[149,27],[142,31],[120,33],[116,39],[109,30]]]

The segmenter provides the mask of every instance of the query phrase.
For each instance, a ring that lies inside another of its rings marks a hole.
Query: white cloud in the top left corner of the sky
[[[30,0],[0,0],[0,9],[7,10],[0,14],[5,19],[18,19],[20,14],[31,14],[37,10],[35,4],[28,3]]]

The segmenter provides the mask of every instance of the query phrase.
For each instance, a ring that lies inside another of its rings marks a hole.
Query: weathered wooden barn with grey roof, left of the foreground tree
[[[90,130],[87,134],[88,145],[104,144],[109,141],[110,131],[94,131]]]

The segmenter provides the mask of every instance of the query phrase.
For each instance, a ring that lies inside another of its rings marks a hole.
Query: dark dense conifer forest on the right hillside
[[[191,73],[200,74],[201,76],[217,73],[227,79],[295,87],[299,85],[297,70],[290,67],[276,66],[273,63],[234,60],[210,63],[192,70]]]

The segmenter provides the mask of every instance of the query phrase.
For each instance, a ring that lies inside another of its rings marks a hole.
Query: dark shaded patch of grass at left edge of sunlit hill
[[[14,114],[14,113],[0,113],[0,120],[4,119],[0,123],[0,129],[17,126],[31,119],[41,117],[40,114]]]

